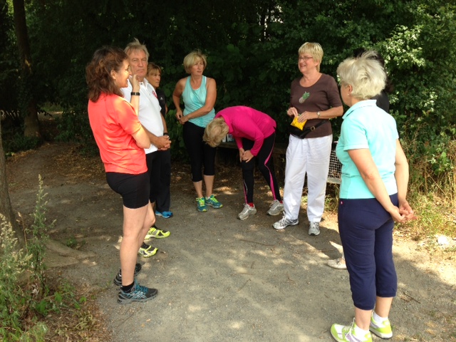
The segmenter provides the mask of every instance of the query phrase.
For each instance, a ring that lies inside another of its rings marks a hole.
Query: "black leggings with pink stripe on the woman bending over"
[[[263,145],[258,152],[257,157],[252,158],[249,162],[242,160],[242,179],[244,182],[244,196],[246,203],[254,202],[254,168],[255,161],[258,162],[258,169],[266,180],[266,184],[272,192],[272,197],[281,201],[279,185],[277,184],[276,174],[274,172],[274,161],[272,159],[272,150],[274,149],[274,142],[276,140],[276,133],[272,133],[268,138],[264,139]],[[252,149],[254,145],[253,140],[242,138],[242,147],[244,150]]]

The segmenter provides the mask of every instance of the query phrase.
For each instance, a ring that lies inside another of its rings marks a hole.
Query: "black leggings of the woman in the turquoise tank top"
[[[202,140],[204,128],[187,121],[184,125],[184,142],[190,156],[192,167],[192,182],[202,181],[201,167],[204,166],[204,175],[215,175],[215,147],[210,147]]]

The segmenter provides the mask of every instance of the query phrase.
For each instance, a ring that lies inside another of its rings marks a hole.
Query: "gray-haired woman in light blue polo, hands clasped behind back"
[[[398,287],[393,227],[415,218],[405,199],[408,162],[395,120],[371,100],[386,80],[380,63],[371,59],[373,53],[348,58],[337,69],[342,100],[350,107],[343,115],[336,154],[343,165],[339,233],[355,318],[349,326],[331,326],[336,341],[372,341],[371,332],[393,336],[388,319]]]

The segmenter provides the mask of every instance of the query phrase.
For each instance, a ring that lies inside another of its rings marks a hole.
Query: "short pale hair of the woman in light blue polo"
[[[378,95],[386,83],[386,73],[375,51],[366,51],[357,58],[347,58],[337,68],[341,83],[352,86],[351,95],[358,100],[367,100]]]

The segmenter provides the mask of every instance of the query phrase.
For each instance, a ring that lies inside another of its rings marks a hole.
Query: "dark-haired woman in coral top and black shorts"
[[[133,84],[130,104],[120,88]],[[86,68],[88,117],[93,136],[105,165],[108,185],[123,199],[123,239],[120,244],[120,271],[114,283],[121,285],[118,303],[147,301],[156,289],[140,286],[135,274],[138,249],[155,215],[149,202],[149,180],[144,148],[150,140],[138,120],[139,81],[130,76],[128,56],[120,48],[105,46],[93,54]]]

